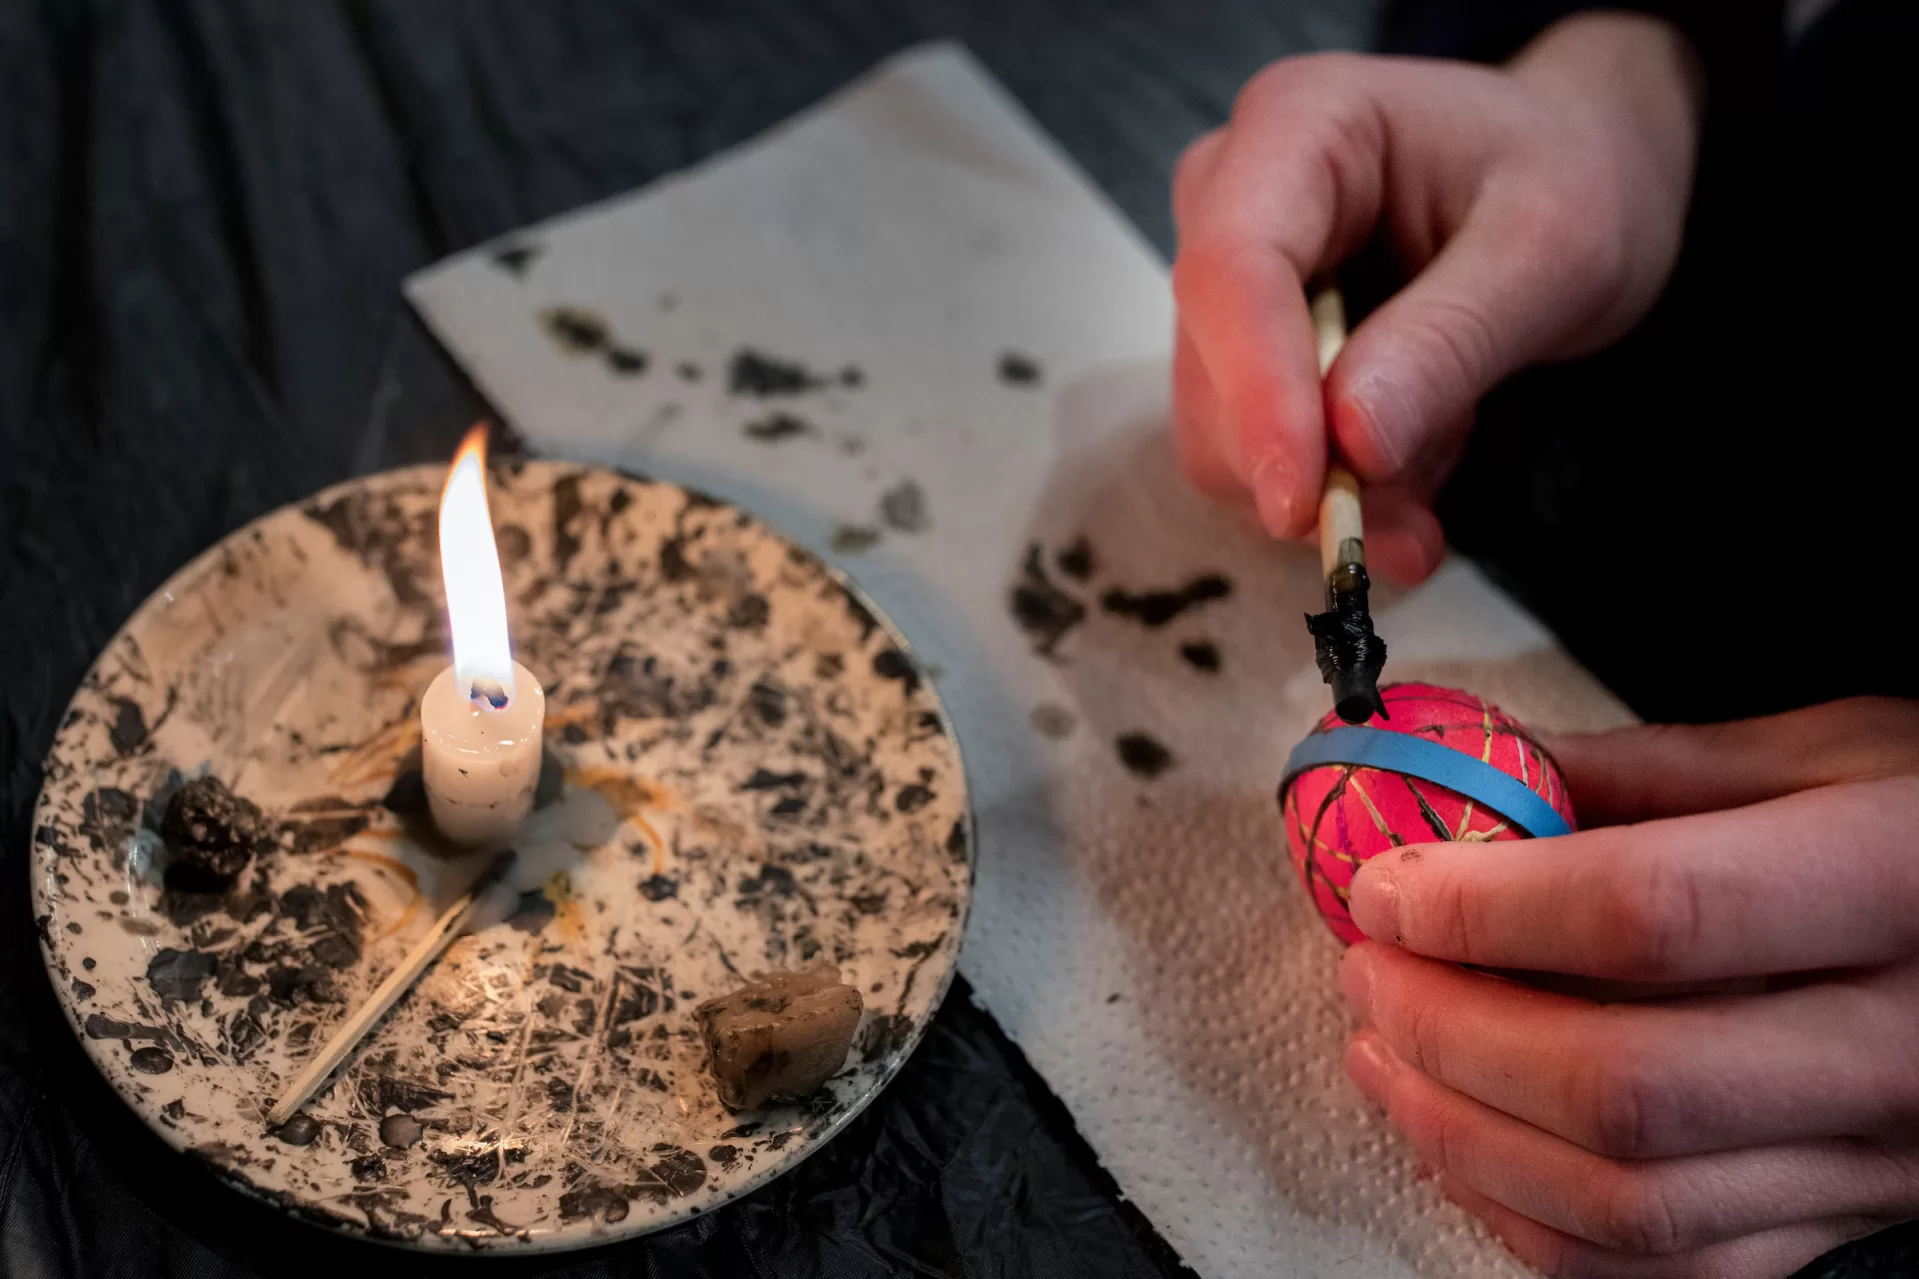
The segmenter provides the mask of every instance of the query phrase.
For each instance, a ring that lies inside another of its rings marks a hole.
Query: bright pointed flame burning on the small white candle
[[[453,628],[453,678],[462,693],[499,709],[512,701],[512,647],[507,584],[486,505],[486,422],[466,432],[439,494],[439,574]]]

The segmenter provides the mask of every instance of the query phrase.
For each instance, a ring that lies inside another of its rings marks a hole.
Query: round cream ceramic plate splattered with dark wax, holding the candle
[[[793,1168],[917,1043],[971,889],[958,747],[898,634],[754,519],[608,471],[495,467],[553,757],[518,905],[269,1131],[472,874],[409,824],[416,699],[447,661],[443,474],[276,511],[115,636],[46,762],[46,964],[127,1104],[288,1212],[418,1248],[639,1235]],[[278,837],[230,891],[180,893],[159,824],[207,772]],[[865,1001],[846,1068],[808,1104],[725,1110],[693,1006],[816,962]]]

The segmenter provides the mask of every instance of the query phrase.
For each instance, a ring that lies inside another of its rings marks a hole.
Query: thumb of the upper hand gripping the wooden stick
[[[1481,192],[1432,263],[1353,332],[1326,403],[1362,478],[1435,486],[1480,398],[1604,311],[1616,282],[1604,253],[1574,244],[1575,219],[1537,194]]]

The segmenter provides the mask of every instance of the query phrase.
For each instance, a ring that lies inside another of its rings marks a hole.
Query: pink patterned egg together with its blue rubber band
[[[1510,714],[1433,684],[1380,689],[1387,718],[1328,712],[1293,747],[1280,814],[1293,870],[1339,941],[1364,933],[1347,910],[1361,862],[1409,843],[1564,835],[1572,799],[1552,757]]]

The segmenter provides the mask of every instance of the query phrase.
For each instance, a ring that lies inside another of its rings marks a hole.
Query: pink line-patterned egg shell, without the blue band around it
[[[1558,764],[1510,714],[1483,697],[1433,684],[1389,684],[1380,689],[1380,697],[1391,718],[1374,716],[1366,728],[1437,741],[1489,764],[1520,782],[1551,805],[1566,828],[1574,828],[1572,799]],[[1307,743],[1339,728],[1339,718],[1326,712]],[[1368,764],[1326,762],[1299,772],[1280,789],[1280,812],[1286,818],[1293,870],[1326,926],[1347,943],[1364,937],[1347,912],[1347,891],[1353,872],[1366,858],[1435,839],[1485,843],[1528,837],[1508,814],[1495,812],[1481,801],[1409,772]]]

